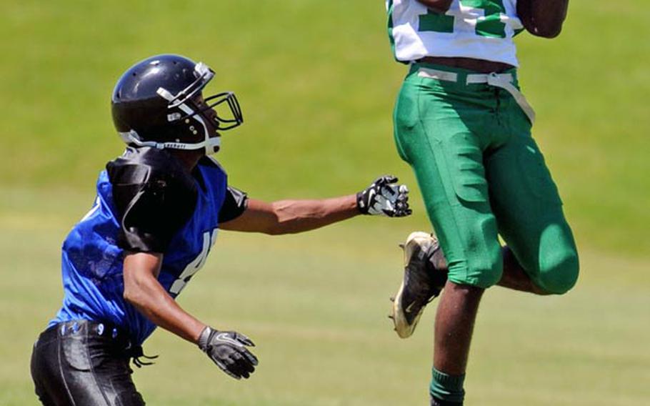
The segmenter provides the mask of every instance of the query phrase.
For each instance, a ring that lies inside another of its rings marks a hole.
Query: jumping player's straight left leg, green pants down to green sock
[[[396,106],[395,135],[401,157],[414,169],[448,267],[436,314],[431,395],[436,402],[459,404],[481,295],[501,279],[502,259],[483,141],[468,128],[484,113],[473,99],[464,102],[471,94],[454,98],[452,88],[435,79],[407,77]]]

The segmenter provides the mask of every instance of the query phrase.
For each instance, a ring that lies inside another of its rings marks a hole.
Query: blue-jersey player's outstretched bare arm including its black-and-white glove
[[[220,224],[221,229],[264,234],[294,234],[341,222],[359,214],[403,217],[411,214],[409,189],[395,177],[379,177],[357,194],[316,200],[262,202],[249,199],[241,216]]]

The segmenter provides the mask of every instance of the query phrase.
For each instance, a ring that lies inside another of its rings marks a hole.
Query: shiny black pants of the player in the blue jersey
[[[50,327],[31,355],[31,377],[45,406],[140,406],[131,380],[129,338],[86,320]]]

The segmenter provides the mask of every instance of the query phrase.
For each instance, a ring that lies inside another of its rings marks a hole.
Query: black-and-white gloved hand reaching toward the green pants
[[[356,194],[356,207],[362,214],[404,217],[411,214],[409,188],[396,184],[393,175],[378,177],[366,189]]]

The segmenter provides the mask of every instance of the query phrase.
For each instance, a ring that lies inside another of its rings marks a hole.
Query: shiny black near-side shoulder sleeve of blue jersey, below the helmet
[[[109,162],[117,244],[132,252],[161,252],[196,207],[196,188],[179,174],[145,164]]]

